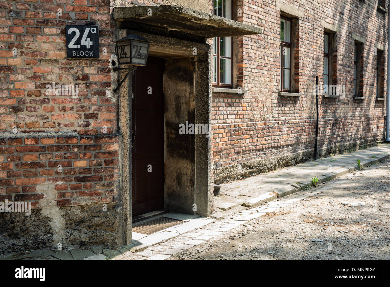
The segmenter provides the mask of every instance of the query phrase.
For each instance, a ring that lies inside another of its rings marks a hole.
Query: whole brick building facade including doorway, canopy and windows
[[[319,156],[383,141],[387,11],[0,1],[0,200],[32,207],[2,212],[0,251],[129,244],[133,218],[157,209],[209,216],[213,183],[313,158],[315,91]],[[98,26],[98,57],[67,56],[66,25],[85,24]],[[126,77],[115,43],[131,34],[150,50]]]

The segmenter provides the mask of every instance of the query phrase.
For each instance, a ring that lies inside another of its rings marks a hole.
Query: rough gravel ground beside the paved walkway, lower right
[[[321,193],[168,260],[389,260],[389,172],[386,160],[319,184]]]

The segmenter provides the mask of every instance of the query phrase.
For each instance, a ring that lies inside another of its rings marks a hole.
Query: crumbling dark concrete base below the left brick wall
[[[121,244],[119,214],[114,203],[108,203],[106,211],[102,209],[101,204],[90,204],[60,207],[51,215],[40,209],[32,209],[30,216],[1,213],[0,234],[4,236],[0,254],[57,247],[58,243],[116,247]],[[58,225],[57,221],[62,223]],[[58,238],[60,242],[56,242]]]

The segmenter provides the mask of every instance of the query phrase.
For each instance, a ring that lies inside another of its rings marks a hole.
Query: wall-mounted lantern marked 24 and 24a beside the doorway
[[[146,66],[150,43],[136,34],[130,34],[122,39],[119,39],[116,42],[116,45],[119,68],[114,68],[113,70],[129,70],[129,72],[114,89],[114,93],[119,89],[121,84],[130,74],[134,74],[137,66]],[[121,68],[121,65],[125,64],[130,65],[130,67]]]

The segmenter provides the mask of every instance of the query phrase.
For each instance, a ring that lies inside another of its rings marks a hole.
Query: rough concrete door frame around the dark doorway
[[[175,58],[191,57],[194,64],[193,91],[195,98],[195,123],[207,123],[211,130],[211,99],[212,99],[212,50],[211,45],[176,39],[165,36],[147,34],[143,32],[118,29],[117,39],[128,34],[138,36],[151,42],[149,55],[156,57]],[[194,55],[194,49],[196,54]],[[122,79],[127,71],[120,70],[118,77]],[[121,88],[118,96],[119,131],[121,134],[121,224],[122,242],[131,243],[131,221],[132,221],[132,155],[131,155],[131,127],[132,127],[132,85],[131,77],[128,77]],[[179,128],[177,128],[177,131]],[[211,212],[211,201],[213,200],[213,178],[212,178],[212,136],[195,134],[195,162],[193,182],[193,208],[200,216],[209,216]],[[195,204],[195,205],[194,205]],[[189,213],[189,212],[188,212]]]

